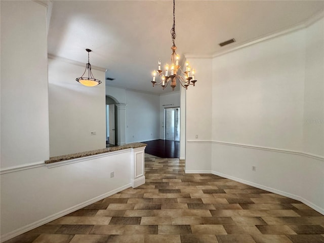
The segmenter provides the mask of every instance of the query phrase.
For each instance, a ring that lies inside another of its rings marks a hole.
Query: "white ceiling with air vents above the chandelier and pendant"
[[[176,1],[178,54],[214,54],[301,23],[324,1]],[[158,58],[171,55],[172,1],[53,1],[49,54],[108,69],[107,85],[150,93]],[[219,47],[235,38],[236,43]],[[199,70],[196,70],[199,77]],[[81,75],[82,73],[76,73]],[[199,78],[198,82],[199,82]]]

